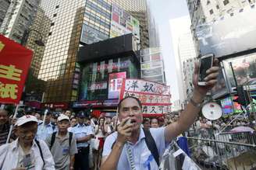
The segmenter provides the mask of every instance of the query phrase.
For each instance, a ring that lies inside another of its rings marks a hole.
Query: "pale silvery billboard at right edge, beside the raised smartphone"
[[[247,54],[240,57],[233,57],[222,61],[226,71],[227,82],[229,83],[230,92],[236,87],[233,78],[233,72],[229,63],[233,65],[233,71],[236,76],[237,85],[245,85],[250,90],[256,89],[256,54]]]

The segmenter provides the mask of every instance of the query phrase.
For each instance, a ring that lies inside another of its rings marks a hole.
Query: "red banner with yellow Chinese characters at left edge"
[[[20,102],[33,52],[0,35],[0,103]]]

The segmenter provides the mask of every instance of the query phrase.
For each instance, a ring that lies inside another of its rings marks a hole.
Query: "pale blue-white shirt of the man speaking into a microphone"
[[[165,151],[165,127],[161,128],[150,128],[152,137],[155,140],[156,147],[158,148],[159,158],[162,158],[162,154]],[[112,145],[116,141],[117,132],[108,135],[105,140],[102,157],[108,156],[112,151]],[[152,157],[151,151],[145,141],[145,134],[142,128],[140,128],[140,137],[136,144],[127,142],[130,145],[133,154],[133,161],[137,170],[148,170],[147,162],[150,163],[152,170],[158,170],[158,165],[155,159]],[[130,170],[130,163],[127,158],[126,144],[123,146],[123,151],[120,155],[119,162],[117,165],[118,170]]]

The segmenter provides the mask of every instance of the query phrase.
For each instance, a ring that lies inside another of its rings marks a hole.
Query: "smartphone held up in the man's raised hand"
[[[200,58],[197,85],[206,85],[204,78],[206,78],[207,76],[206,71],[209,68],[212,68],[213,60],[214,60],[214,54],[205,54]]]

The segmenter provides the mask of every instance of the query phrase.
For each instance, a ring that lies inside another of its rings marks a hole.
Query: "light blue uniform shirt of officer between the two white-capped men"
[[[56,131],[56,126],[53,126],[52,123],[44,124],[41,123],[37,127],[37,139],[41,139],[43,141],[46,140],[48,136],[50,136],[52,133]]]

